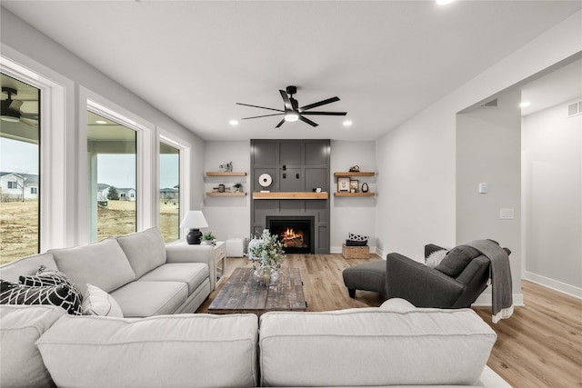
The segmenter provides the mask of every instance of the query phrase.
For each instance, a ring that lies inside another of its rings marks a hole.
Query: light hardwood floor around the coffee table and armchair
[[[300,268],[307,311],[329,311],[378,306],[378,293],[347,295],[342,271],[370,259],[344,259],[341,254],[289,254],[284,266]],[[226,276],[236,267],[251,266],[244,258],[226,259]],[[220,290],[210,294],[196,313],[206,313]],[[513,316],[491,323],[490,307],[474,310],[497,333],[487,364],[514,387],[582,387],[582,301],[531,282],[522,282],[525,306]]]

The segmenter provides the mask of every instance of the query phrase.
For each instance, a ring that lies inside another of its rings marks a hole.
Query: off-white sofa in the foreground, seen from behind
[[[484,386],[496,333],[470,309],[110,318],[0,306],[3,387]],[[17,356],[15,356],[17,355]]]

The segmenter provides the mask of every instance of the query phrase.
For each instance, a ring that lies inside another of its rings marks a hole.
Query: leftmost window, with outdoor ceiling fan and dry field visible
[[[0,264],[5,264],[39,252],[40,89],[5,74],[0,81]]]

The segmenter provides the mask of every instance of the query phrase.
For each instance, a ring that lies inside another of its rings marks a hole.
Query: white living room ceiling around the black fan
[[[206,140],[375,140],[582,7],[580,1],[5,1]],[[540,53],[543,55],[543,53]],[[228,122],[332,96],[309,116]],[[467,106],[475,102],[467,102]],[[325,108],[325,109],[324,109]]]

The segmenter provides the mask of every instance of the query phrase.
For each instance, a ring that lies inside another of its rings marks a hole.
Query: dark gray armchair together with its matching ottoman
[[[441,249],[444,248],[427,244],[425,256]],[[387,254],[386,265],[380,261],[346,268],[344,283],[352,298],[356,296],[357,289],[384,293],[388,298],[403,298],[416,307],[469,307],[487,288],[489,259],[477,251],[462,254],[465,254],[461,263],[463,266],[457,266],[454,271],[439,271],[402,254]],[[371,271],[376,272],[373,282],[369,278]],[[378,282],[383,278],[386,279],[384,289]]]

